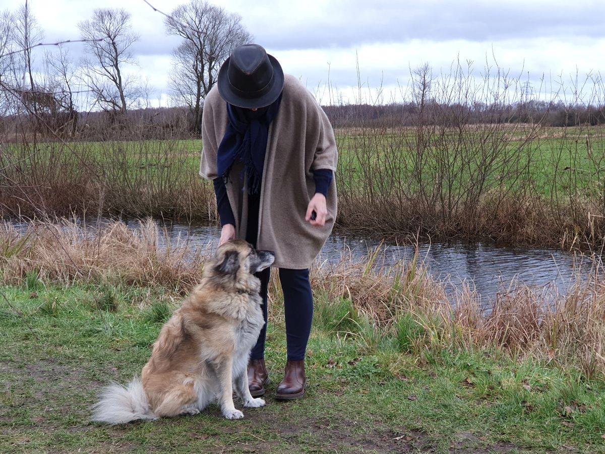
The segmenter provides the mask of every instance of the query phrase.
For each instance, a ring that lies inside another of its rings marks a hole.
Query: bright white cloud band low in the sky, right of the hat
[[[535,39],[508,39],[500,42],[469,42],[452,40],[446,42],[415,39],[405,43],[361,45],[358,48],[329,48],[313,50],[280,51],[268,49],[280,60],[284,71],[299,77],[313,92],[327,92],[325,85],[347,93],[347,99],[359,95],[356,61],[359,61],[359,80],[362,92],[368,88],[365,100],[376,97],[381,88],[384,99],[399,98],[401,86],[409,83],[410,70],[428,63],[434,74],[449,74],[451,66],[460,60],[463,68],[471,62],[472,74],[482,77],[491,66],[498,65],[512,79],[530,80],[535,89],[546,79],[555,84],[560,78],[569,86],[571,77],[578,71],[580,81],[588,74],[603,72],[600,60],[595,55],[605,54],[605,38],[586,44],[581,39],[552,41]],[[495,57],[495,60],[494,60]],[[310,77],[312,74],[313,77]],[[355,96],[354,96],[355,94]]]

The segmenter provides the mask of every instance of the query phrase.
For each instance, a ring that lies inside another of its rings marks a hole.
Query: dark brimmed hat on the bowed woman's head
[[[275,57],[258,44],[238,46],[218,71],[218,92],[231,105],[261,108],[278,99],[284,71]]]

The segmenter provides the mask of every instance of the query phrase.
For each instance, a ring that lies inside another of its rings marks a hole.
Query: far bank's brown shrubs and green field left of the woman
[[[140,131],[143,134],[143,131]],[[0,215],[70,213],[214,221],[211,184],[197,173],[191,141],[24,141],[0,152]]]

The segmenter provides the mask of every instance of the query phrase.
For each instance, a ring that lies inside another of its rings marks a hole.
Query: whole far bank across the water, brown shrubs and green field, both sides
[[[605,241],[602,126],[448,124],[337,131],[336,229],[379,238],[597,250]],[[29,140],[29,139],[28,139]],[[200,140],[5,144],[0,215],[217,222]]]

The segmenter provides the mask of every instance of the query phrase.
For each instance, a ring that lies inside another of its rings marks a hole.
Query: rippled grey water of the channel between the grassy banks
[[[101,219],[101,222],[106,221]],[[94,227],[97,222],[97,219],[88,221],[87,225]],[[136,219],[124,222],[131,229],[139,227]],[[192,250],[214,250],[218,246],[220,229],[217,227],[175,222],[157,224],[160,229],[166,229],[172,243],[186,241]],[[27,229],[25,223],[15,225]],[[376,261],[379,267],[409,262],[416,251],[416,247],[410,244],[381,244],[373,239],[333,234],[322,248],[320,258],[322,261],[338,262],[346,255],[364,260],[379,246],[381,253]],[[511,282],[528,285],[537,291],[564,293],[575,277],[586,276],[593,264],[589,258],[560,250],[495,247],[482,242],[420,244],[418,254],[419,261],[424,262],[431,276],[445,284],[448,294],[455,294],[463,285],[469,285],[476,289],[482,300],[493,299],[498,291],[507,288]]]

